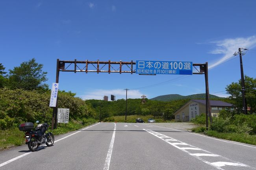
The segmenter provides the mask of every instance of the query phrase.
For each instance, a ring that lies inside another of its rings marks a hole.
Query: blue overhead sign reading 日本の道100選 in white
[[[192,75],[193,63],[187,61],[136,60],[136,74]]]

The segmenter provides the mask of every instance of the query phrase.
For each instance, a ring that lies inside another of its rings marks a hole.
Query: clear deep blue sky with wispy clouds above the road
[[[0,63],[6,70],[35,58],[51,87],[56,59],[165,60],[209,64],[210,93],[244,74],[256,78],[254,0],[3,0],[0,1]],[[145,76],[128,73],[60,72],[59,88],[82,99],[148,98],[205,93],[204,75]]]

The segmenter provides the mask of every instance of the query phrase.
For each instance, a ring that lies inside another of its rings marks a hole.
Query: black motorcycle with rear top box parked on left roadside
[[[36,121],[39,123],[39,121]],[[41,144],[52,146],[54,144],[54,135],[48,132],[50,125],[47,123],[38,124],[35,130],[32,122],[26,122],[19,125],[19,130],[23,131],[26,137],[28,148],[34,152]]]

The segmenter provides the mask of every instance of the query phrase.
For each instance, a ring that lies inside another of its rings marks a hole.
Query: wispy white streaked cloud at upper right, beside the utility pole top
[[[212,69],[226,60],[233,57],[233,54],[238,51],[238,48],[253,48],[256,46],[256,36],[248,38],[229,38],[220,41],[211,42],[216,44],[217,48],[211,51],[211,54],[224,54],[224,56],[218,61],[209,64],[208,69]]]

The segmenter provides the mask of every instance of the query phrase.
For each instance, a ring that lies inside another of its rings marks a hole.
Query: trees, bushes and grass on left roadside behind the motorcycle
[[[38,120],[51,125],[50,89],[44,84],[47,78],[42,68],[33,58],[6,74],[0,63],[0,150],[24,144],[24,133],[18,128],[23,122],[35,124]],[[75,95],[71,91],[58,91],[58,107],[69,108],[69,123],[58,124],[52,130],[55,135],[96,122],[94,109]]]

